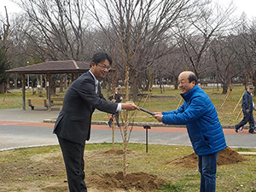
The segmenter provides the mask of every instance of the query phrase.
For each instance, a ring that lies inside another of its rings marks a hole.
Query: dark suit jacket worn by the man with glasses
[[[67,90],[54,133],[74,143],[84,144],[85,140],[90,139],[91,115],[95,108],[115,113],[117,105],[116,102],[105,100],[99,84],[96,94],[93,76],[90,72],[84,73]]]

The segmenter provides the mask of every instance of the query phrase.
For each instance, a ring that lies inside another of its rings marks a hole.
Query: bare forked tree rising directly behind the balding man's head
[[[189,69],[193,70],[199,78],[201,73],[207,71],[207,62],[209,54],[207,49],[212,44],[212,39],[223,36],[224,32],[229,30],[230,15],[235,10],[233,3],[227,9],[221,8],[216,4],[211,8],[212,3],[200,4],[195,10],[195,14],[188,18],[184,28],[178,30],[178,38],[180,38],[180,47],[187,56]],[[179,28],[178,28],[179,29]]]

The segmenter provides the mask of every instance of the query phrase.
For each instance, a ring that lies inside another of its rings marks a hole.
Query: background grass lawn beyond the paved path
[[[232,93],[230,96],[227,97],[227,100],[224,102],[222,108],[222,102],[224,101],[225,95],[221,94],[222,89],[217,90],[217,88],[212,87],[203,87],[203,89],[207,92],[207,95],[211,98],[215,108],[218,112],[218,118],[222,125],[235,125],[242,119],[242,113],[238,119],[237,116],[241,110],[241,102],[239,102],[243,92],[244,86],[234,86]],[[22,94],[21,90],[10,90],[11,93],[8,94],[0,94],[0,109],[3,108],[22,108]],[[106,90],[102,90],[103,95],[108,98],[111,94]],[[166,87],[163,93],[160,93],[160,90],[154,88],[152,91],[152,95],[148,97],[145,101],[145,97],[141,98],[140,101],[136,102],[138,106],[146,108],[150,111],[157,112],[157,111],[169,111],[177,109],[178,104],[181,102],[180,90],[173,90],[170,87]],[[65,96],[65,92],[59,93],[57,92],[58,96],[55,97],[63,97]],[[43,98],[46,98],[45,91],[42,93]],[[26,99],[28,98],[41,98],[36,95],[32,95],[32,90],[26,90]],[[255,98],[253,97],[253,100]],[[239,103],[238,103],[239,102]],[[238,107],[236,105],[238,103]],[[26,107],[27,103],[26,103]],[[236,108],[236,111],[234,111]],[[156,122],[154,118],[152,118],[147,113],[143,112],[131,112],[132,119],[131,122]],[[92,120],[102,120],[108,121],[109,114],[108,113],[95,113],[93,114]],[[122,113],[120,113],[120,119],[122,119]]]

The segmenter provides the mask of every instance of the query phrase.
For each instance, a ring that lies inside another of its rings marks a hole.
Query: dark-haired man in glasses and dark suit
[[[55,122],[54,133],[61,146],[70,192],[87,192],[84,146],[90,139],[91,115],[95,108],[107,113],[138,109],[134,102],[107,102],[102,96],[99,81],[107,75],[111,64],[112,58],[105,52],[93,56],[90,71],[82,74],[67,90]]]

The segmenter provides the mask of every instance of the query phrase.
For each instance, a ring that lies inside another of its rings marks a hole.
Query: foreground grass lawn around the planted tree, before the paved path
[[[106,154],[110,143],[86,144],[84,151],[86,178],[96,173],[122,172],[122,155]],[[115,148],[122,148],[116,143]],[[145,145],[129,143],[127,165],[129,172],[147,172],[171,180],[154,192],[199,191],[200,173],[195,168],[171,167],[168,163],[193,153],[193,148],[183,146]],[[236,148],[252,151],[254,148]],[[59,146],[19,148],[0,152],[0,191],[67,191],[67,178]],[[218,166],[217,191],[255,191],[256,158],[226,166]],[[86,181],[85,178],[85,181]],[[88,182],[89,191],[95,191]],[[129,190],[135,192],[138,190]]]

